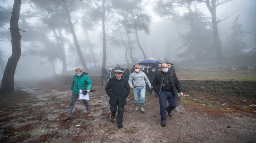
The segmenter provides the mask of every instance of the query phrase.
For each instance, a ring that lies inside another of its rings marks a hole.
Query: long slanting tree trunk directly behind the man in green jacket
[[[65,9],[65,13],[66,13],[66,16],[67,16],[67,21],[68,21],[68,24],[69,24],[69,27],[70,27],[70,31],[71,31],[72,36],[73,36],[74,45],[76,46],[76,51],[78,53],[78,57],[79,57],[79,59],[81,61],[81,64],[83,66],[83,70],[88,71],[88,68],[87,68],[86,63],[85,63],[85,59],[83,58],[81,48],[80,48],[80,46],[78,44],[78,41],[77,41],[76,32],[74,31],[74,26],[73,26],[73,23],[71,21],[70,12],[68,10],[66,2],[64,2],[64,9]]]

